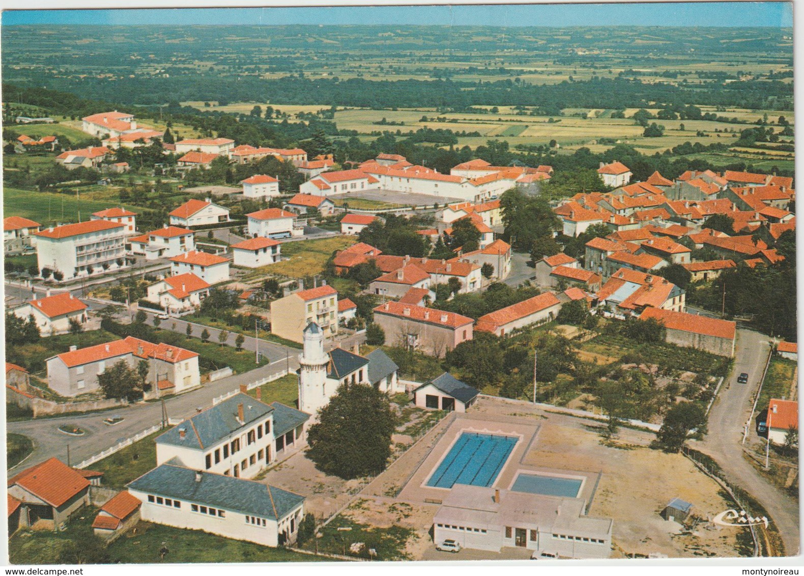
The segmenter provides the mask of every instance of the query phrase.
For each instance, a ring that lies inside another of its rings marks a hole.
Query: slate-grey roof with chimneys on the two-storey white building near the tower
[[[237,405],[243,405],[244,424],[237,422]],[[243,426],[248,426],[258,418],[270,413],[273,408],[244,393],[236,393],[220,404],[195,414],[165,434],[156,438],[158,444],[185,446],[203,450],[227,438]],[[184,430],[184,438],[179,433]]]

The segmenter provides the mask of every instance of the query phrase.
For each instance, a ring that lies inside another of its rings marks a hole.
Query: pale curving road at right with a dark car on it
[[[760,385],[770,345],[768,337],[752,330],[738,330],[734,369],[709,413],[709,433],[702,442],[690,445],[712,456],[731,482],[749,492],[768,511],[785,543],[786,554],[794,556],[800,548],[798,503],[768,483],[743,457],[744,425],[753,405],[753,394]],[[749,383],[737,384],[736,376],[748,372]],[[755,436],[749,423],[749,441]]]

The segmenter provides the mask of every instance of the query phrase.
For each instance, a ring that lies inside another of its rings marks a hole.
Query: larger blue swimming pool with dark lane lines
[[[452,488],[453,484],[491,486],[518,439],[462,432],[430,476],[427,485],[435,488]]]

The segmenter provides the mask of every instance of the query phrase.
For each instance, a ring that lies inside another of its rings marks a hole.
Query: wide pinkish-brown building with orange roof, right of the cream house
[[[385,302],[374,309],[374,322],[385,332],[385,341],[443,358],[461,342],[472,339],[474,320],[401,302]]]

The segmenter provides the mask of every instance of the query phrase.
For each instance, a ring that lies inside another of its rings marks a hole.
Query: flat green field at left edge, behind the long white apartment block
[[[3,212],[5,216],[23,216],[39,222],[39,224],[54,224],[58,222],[77,222],[78,212],[81,220],[89,220],[92,212],[105,208],[122,206],[132,212],[142,214],[149,208],[121,204],[120,200],[85,200],[80,203],[73,194],[55,194],[53,192],[39,192],[21,190],[19,188],[3,188]]]

